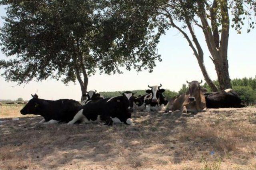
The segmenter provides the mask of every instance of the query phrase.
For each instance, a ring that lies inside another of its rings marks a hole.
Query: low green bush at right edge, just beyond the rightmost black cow
[[[241,100],[244,101],[246,105],[256,104],[256,91],[250,86],[234,86],[233,89],[238,93]]]

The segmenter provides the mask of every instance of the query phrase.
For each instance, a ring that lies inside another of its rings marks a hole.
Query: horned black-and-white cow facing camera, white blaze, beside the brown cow
[[[168,101],[164,97],[164,89],[160,89],[162,87],[162,84],[160,86],[149,86],[149,88],[146,90],[146,95],[143,95],[141,97],[138,97],[141,101],[143,101],[143,104],[135,105],[134,109],[143,110],[146,109],[146,111],[160,111],[164,106],[167,105]]]

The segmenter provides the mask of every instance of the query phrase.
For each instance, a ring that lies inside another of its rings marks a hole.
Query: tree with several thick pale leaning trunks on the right
[[[246,19],[249,23],[247,32],[250,32],[255,24],[251,18],[256,12],[254,0],[112,0],[109,3],[112,3],[110,5],[112,15],[124,20],[133,18],[134,25],[150,30],[148,34],[152,35],[159,28],[159,34],[164,34],[169,28],[181,32],[198,61],[206,83],[212,91],[218,91],[206,71],[202,42],[199,42],[194,31],[194,26],[200,28],[212,55],[210,58],[216,69],[220,89],[231,88],[228,72],[229,15],[232,14],[231,26],[238,34],[241,33]],[[140,17],[148,20],[149,24],[140,23],[138,19]],[[158,40],[159,34],[152,36],[152,40],[155,38]]]

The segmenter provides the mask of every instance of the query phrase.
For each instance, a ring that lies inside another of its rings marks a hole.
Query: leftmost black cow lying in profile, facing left
[[[22,115],[34,114],[44,117],[39,123],[54,124],[68,123],[79,111],[81,105],[78,101],[60,99],[56,101],[38,99],[38,95],[31,95],[32,99],[20,110]]]

